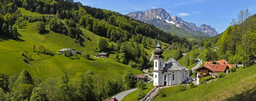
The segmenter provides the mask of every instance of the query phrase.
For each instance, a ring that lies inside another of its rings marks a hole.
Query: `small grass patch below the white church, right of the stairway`
[[[178,89],[180,86],[184,86],[186,87],[187,85],[178,85],[178,86],[174,86],[174,87],[167,87],[167,88],[164,88],[164,95],[165,96],[170,96],[172,94],[175,94],[174,92],[176,91],[176,89]],[[159,95],[156,96],[154,98],[154,100],[158,100],[158,99],[162,99],[162,97],[160,97]]]

